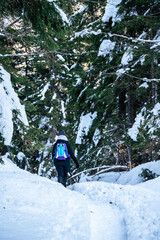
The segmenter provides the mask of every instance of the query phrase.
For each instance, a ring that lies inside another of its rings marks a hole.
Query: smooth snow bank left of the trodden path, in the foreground
[[[0,164],[0,239],[88,240],[84,197],[30,174],[3,158]]]

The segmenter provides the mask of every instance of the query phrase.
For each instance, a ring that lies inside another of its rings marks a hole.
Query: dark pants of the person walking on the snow
[[[66,187],[67,182],[67,173],[69,171],[69,165],[55,165],[57,173],[58,173],[58,182],[61,183],[64,187]]]

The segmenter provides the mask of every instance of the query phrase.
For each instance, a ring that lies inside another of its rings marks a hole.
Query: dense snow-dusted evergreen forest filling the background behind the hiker
[[[80,171],[160,159],[158,0],[1,0],[0,64],[29,121],[13,111],[11,144],[0,135],[21,168],[54,176],[62,129]]]

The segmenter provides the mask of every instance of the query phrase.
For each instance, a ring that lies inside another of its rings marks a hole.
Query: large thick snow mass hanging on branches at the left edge
[[[3,81],[0,83],[0,133],[4,137],[5,145],[10,145],[13,135],[13,110],[18,110],[19,119],[28,125],[25,107],[21,105],[17,93],[14,91],[10,74],[0,65]]]

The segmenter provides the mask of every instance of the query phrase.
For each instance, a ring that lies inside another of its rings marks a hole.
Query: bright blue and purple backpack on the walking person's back
[[[67,144],[66,143],[57,143],[55,149],[55,158],[58,160],[66,160],[70,157],[68,153]]]

